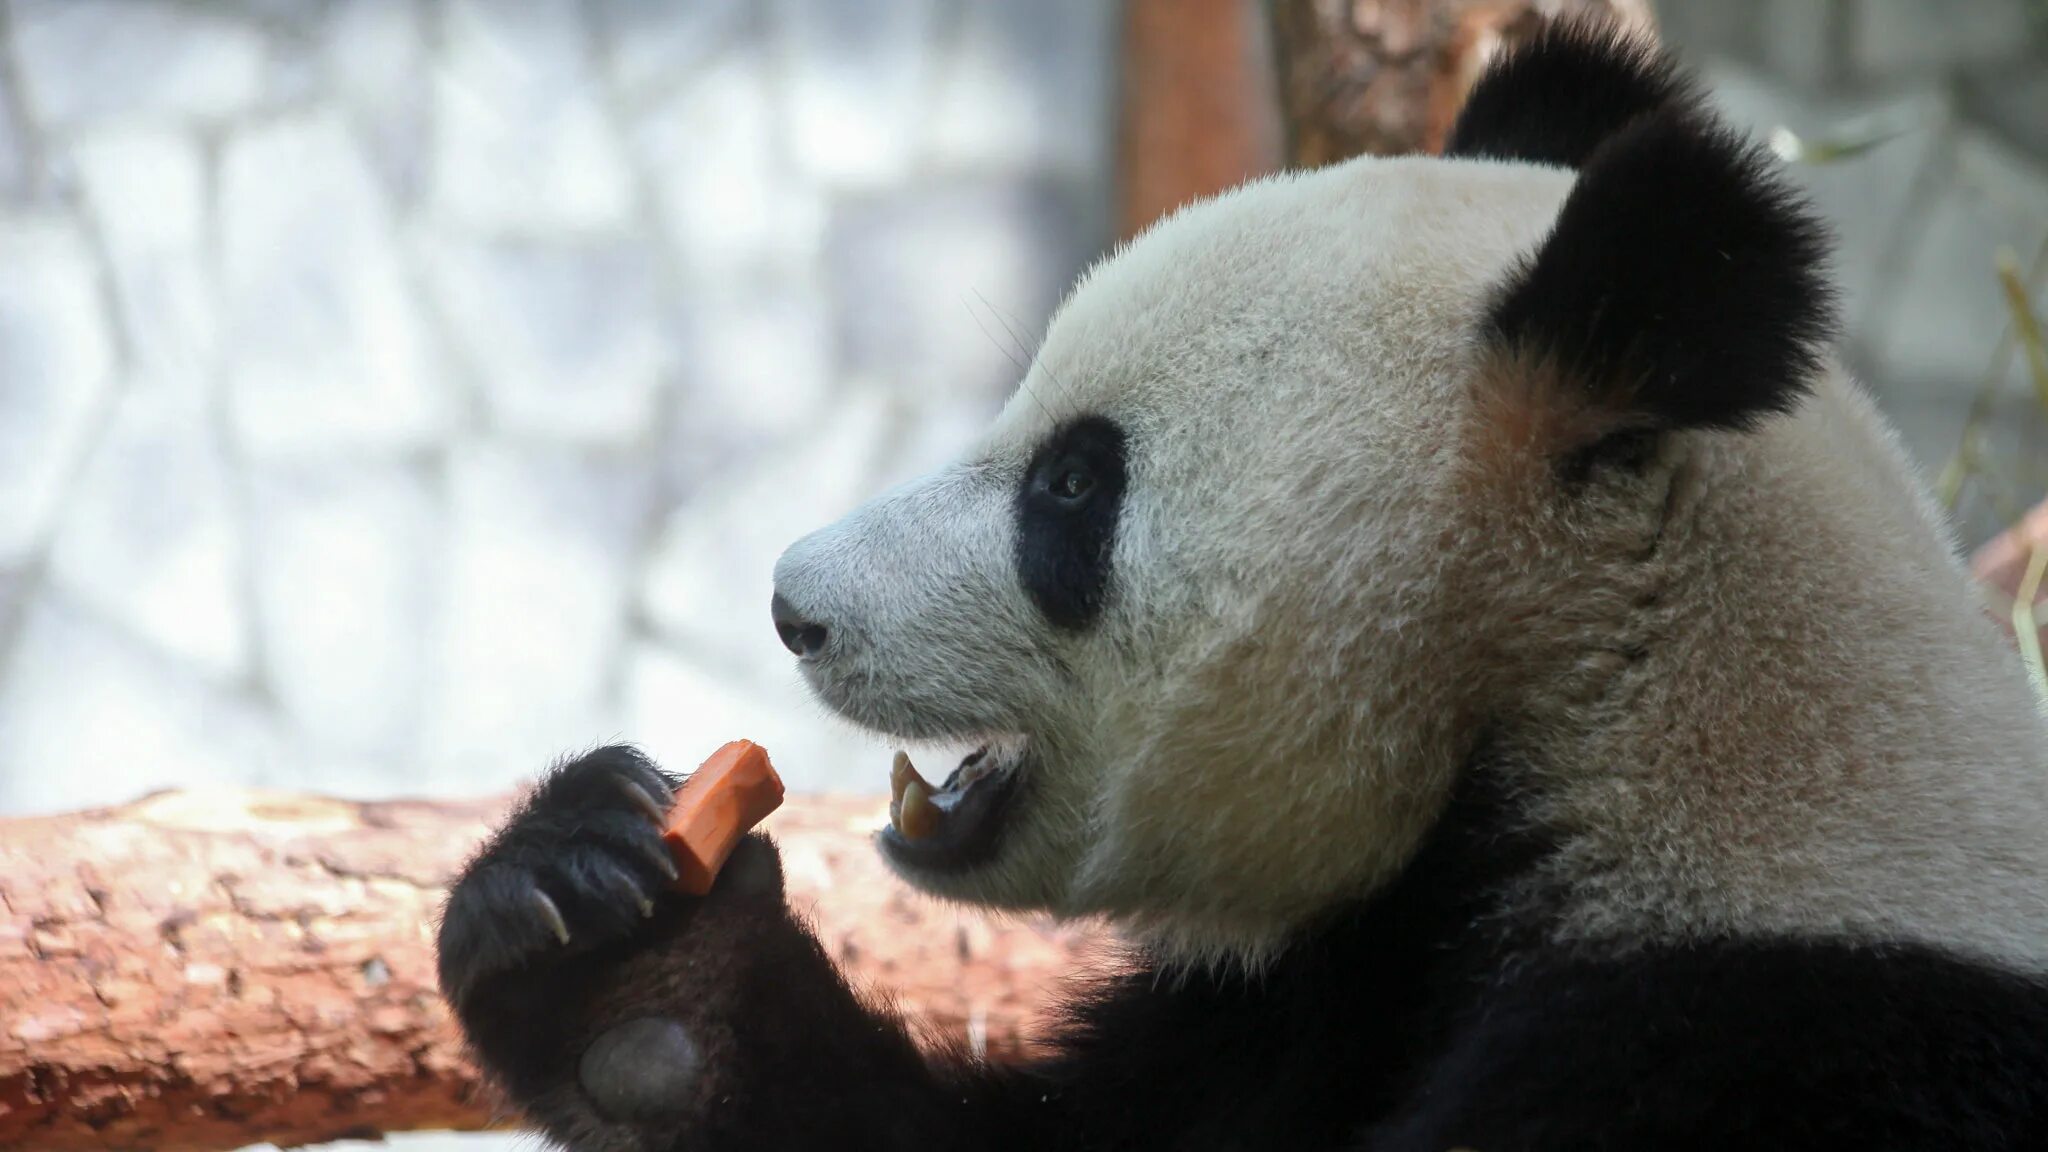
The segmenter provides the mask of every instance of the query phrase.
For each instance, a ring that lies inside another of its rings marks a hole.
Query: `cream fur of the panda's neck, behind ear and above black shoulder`
[[[1669,455],[1669,560],[1624,576],[1587,556],[1569,588],[1524,570],[1497,590],[1663,590],[1620,617],[1640,666],[1567,674],[1573,654],[1597,668],[1597,642],[1559,629],[1548,687],[1524,683],[1540,812],[1569,834],[1565,931],[1915,939],[2048,968],[2048,732],[1870,402],[1831,373],[1796,416]]]

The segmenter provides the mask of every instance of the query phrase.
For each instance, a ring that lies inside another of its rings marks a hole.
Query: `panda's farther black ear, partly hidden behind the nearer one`
[[[1577,168],[1628,121],[1700,100],[1647,41],[1612,25],[1552,23],[1481,76],[1444,156]]]

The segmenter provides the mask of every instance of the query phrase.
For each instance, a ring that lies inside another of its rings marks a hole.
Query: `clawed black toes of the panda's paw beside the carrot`
[[[676,863],[662,820],[676,781],[627,746],[553,769],[463,869],[440,918],[440,990],[616,941],[664,900]]]

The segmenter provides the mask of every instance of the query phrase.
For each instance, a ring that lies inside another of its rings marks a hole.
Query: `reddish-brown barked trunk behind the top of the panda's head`
[[[1493,53],[1556,16],[1649,29],[1647,0],[1266,0],[1286,162],[1438,152]]]

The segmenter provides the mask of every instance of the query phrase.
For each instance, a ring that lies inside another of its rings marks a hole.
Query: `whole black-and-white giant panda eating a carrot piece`
[[[1030,1062],[920,1043],[600,748],[453,888],[483,1068],[606,1152],[2048,1148],[2048,732],[1825,260],[1595,27],[1151,228],[764,621],[973,746],[895,763],[905,881],[1128,951]]]

